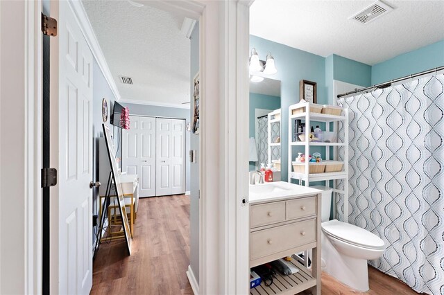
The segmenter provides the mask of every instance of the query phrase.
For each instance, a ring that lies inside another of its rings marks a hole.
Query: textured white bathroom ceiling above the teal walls
[[[444,1],[387,0],[395,10],[369,24],[348,19],[373,2],[255,0],[250,34],[370,65],[444,39]]]

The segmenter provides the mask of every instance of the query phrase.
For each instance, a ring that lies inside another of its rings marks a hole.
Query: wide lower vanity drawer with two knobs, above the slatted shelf
[[[316,242],[316,218],[250,233],[250,260]]]

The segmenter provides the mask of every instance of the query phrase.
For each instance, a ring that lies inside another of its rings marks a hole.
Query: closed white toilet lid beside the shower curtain
[[[366,231],[365,229],[361,229],[358,226],[340,222],[339,220],[323,222],[322,229],[325,233],[332,235],[334,238],[359,247],[370,249],[384,248],[384,241],[377,235],[370,233],[370,231]]]

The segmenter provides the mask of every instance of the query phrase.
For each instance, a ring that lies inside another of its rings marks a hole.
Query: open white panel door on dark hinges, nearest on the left
[[[68,1],[51,1],[51,293],[92,287],[92,53]],[[99,116],[100,114],[97,113]]]

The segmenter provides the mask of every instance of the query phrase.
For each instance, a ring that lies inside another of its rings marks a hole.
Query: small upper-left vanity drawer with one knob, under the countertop
[[[285,221],[285,202],[253,205],[250,208],[250,227]]]

